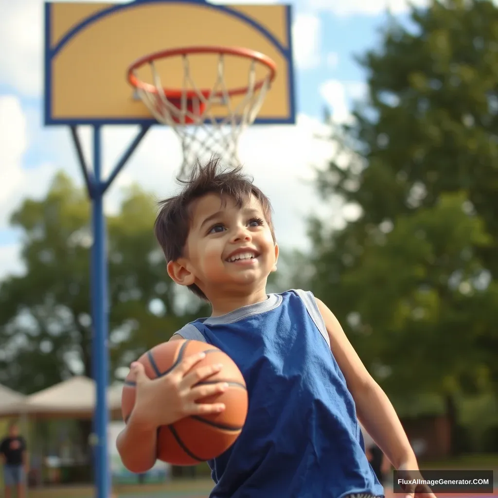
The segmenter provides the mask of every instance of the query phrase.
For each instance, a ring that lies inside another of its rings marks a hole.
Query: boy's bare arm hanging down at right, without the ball
[[[418,470],[391,402],[368,373],[332,311],[320,299],[316,302],[327,327],[330,349],[355,400],[358,419],[395,469]]]

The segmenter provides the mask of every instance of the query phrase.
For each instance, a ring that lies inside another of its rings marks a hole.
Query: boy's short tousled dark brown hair
[[[275,241],[270,201],[252,184],[253,178],[242,172],[241,166],[223,169],[220,158],[211,158],[204,166],[197,160],[190,178],[177,181],[183,185],[182,191],[174,197],[160,201],[161,208],[154,223],[154,234],[167,262],[175,261],[183,255],[192,224],[192,202],[210,193],[220,194],[220,197],[228,195],[236,201],[238,207],[242,207],[251,195],[254,196],[261,204]],[[188,288],[197,296],[206,299],[196,284],[189,285]]]

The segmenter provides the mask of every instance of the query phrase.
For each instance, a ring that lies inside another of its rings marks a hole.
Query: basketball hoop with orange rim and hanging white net
[[[189,56],[217,55],[214,85],[198,88],[193,81]],[[247,83],[227,88],[225,59],[235,56],[248,61]],[[182,58],[182,88],[163,86],[155,62],[173,57]],[[138,78],[137,70],[148,64],[152,83]],[[265,74],[257,78],[258,66]],[[183,163],[180,177],[184,177],[197,158],[205,154],[221,154],[224,162],[235,167],[240,164],[237,147],[244,129],[252,124],[261,109],[266,92],[275,78],[276,64],[266,55],[239,47],[199,46],[163,50],[133,62],[127,79],[138,97],[159,122],[171,126],[180,138]],[[234,99],[234,97],[236,99]],[[236,103],[233,101],[237,100]],[[216,108],[217,114],[215,114]],[[217,118],[223,116],[222,118]]]

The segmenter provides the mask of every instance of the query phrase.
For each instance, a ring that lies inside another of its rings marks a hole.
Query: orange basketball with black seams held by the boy
[[[138,361],[149,378],[157,378],[167,375],[182,359],[201,351],[206,353],[206,357],[193,369],[218,363],[223,364],[223,368],[199,384],[228,382],[229,388],[199,401],[225,403],[226,408],[221,413],[185,417],[159,428],[157,458],[172,465],[197,465],[221,455],[235,443],[246,421],[246,382],[237,365],[218,348],[200,341],[170,341],[155,346]],[[134,403],[135,387],[127,377],[121,402],[125,422]]]

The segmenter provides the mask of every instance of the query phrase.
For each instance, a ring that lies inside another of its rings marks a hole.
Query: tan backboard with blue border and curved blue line
[[[126,80],[127,67],[153,52],[195,45],[245,47],[270,57],[277,74],[254,124],[293,124],[290,26],[291,8],[282,4],[46,2],[45,124],[155,123],[134,96]],[[215,56],[196,57],[190,61],[196,82],[199,87],[212,87]],[[242,63],[240,59],[227,61],[228,86],[247,84]],[[168,88],[180,89],[181,60],[161,64],[161,81]]]

